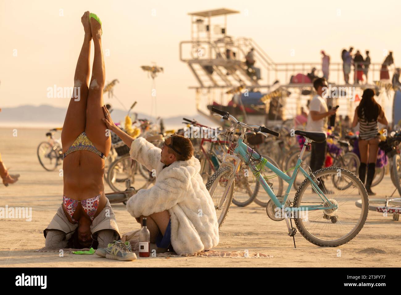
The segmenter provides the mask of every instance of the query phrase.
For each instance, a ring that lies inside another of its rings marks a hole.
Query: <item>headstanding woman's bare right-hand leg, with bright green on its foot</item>
[[[102,121],[104,118],[102,107],[104,105],[105,67],[101,48],[101,26],[94,18],[91,18],[90,24],[95,57],[93,58],[92,77],[89,85],[85,132],[96,148],[107,157],[110,151],[111,138],[107,136],[107,126]]]

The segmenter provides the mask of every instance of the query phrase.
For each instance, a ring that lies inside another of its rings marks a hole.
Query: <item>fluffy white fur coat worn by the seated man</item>
[[[194,255],[217,246],[219,225],[213,200],[199,174],[199,160],[192,157],[163,169],[161,151],[142,137],[132,142],[131,158],[150,171],[156,169],[156,183],[128,200],[128,212],[138,218],[168,210],[171,244],[177,254]]]

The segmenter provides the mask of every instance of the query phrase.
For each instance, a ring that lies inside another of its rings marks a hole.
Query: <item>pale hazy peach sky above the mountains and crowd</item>
[[[197,82],[179,60],[179,42],[190,39],[188,12],[223,7],[241,12],[227,17],[227,33],[252,38],[275,62],[318,62],[322,49],[339,62],[341,49],[351,45],[369,49],[378,63],[385,50],[393,50],[400,65],[400,1],[0,0],[0,108],[67,108],[69,99],[47,98],[47,88],[73,86],[83,41],[81,16],[89,10],[102,20],[103,51],[110,53],[106,83],[119,80],[115,95],[126,106],[137,100],[137,110],[150,113],[151,79],[140,66],[155,61],[165,69],[156,79],[158,115],[195,114],[188,86]],[[105,102],[121,108],[115,100]]]

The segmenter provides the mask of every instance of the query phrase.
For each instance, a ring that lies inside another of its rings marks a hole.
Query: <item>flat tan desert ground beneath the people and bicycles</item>
[[[20,173],[18,183],[0,184],[0,207],[31,207],[32,220],[0,219],[1,267],[396,267],[401,262],[401,220],[369,212],[361,232],[338,248],[318,247],[296,234],[297,248],[287,235],[284,221],[270,220],[265,208],[255,203],[240,208],[232,205],[213,250],[259,252],[269,258],[245,257],[151,257],[132,262],[108,260],[97,255],[35,252],[45,244],[43,229],[62,200],[63,179],[58,171],[48,172],[36,156],[45,129],[0,128],[0,152],[11,173]],[[61,168],[61,167],[60,167]],[[377,197],[393,192],[390,175],[374,187]],[[106,192],[111,189],[106,186]],[[397,194],[397,193],[396,193]],[[397,195],[398,196],[398,195]],[[140,228],[122,203],[113,204],[121,233]]]

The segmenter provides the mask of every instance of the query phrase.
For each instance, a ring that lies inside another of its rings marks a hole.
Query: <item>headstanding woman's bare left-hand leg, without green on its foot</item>
[[[73,144],[75,139],[85,131],[86,122],[86,102],[88,97],[88,83],[90,75],[90,53],[91,53],[91,29],[89,24],[89,11],[85,12],[81,17],[81,22],[85,31],[85,37],[79,53],[77,66],[74,75],[74,92],[77,88],[79,96],[74,96],[70,100],[67,114],[65,115],[63,131],[61,132],[61,143],[63,145],[63,153],[67,151],[69,146]]]

